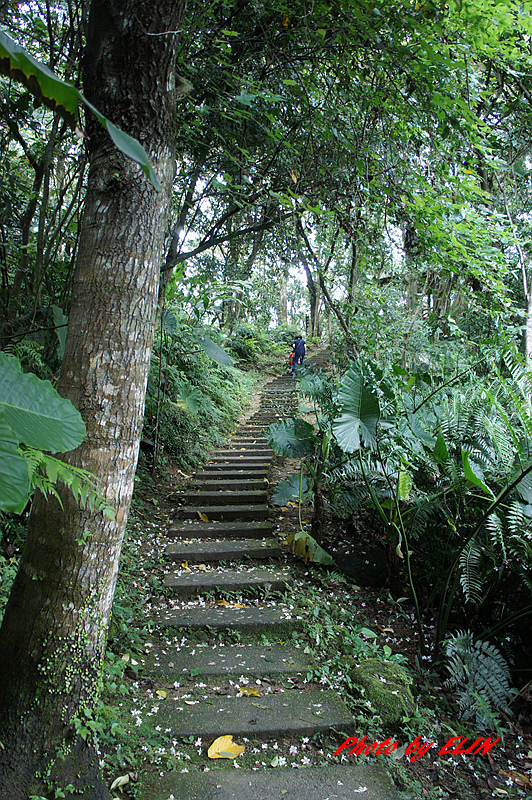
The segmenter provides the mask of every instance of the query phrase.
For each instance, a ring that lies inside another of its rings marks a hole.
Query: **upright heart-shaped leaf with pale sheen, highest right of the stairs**
[[[362,445],[374,449],[377,443],[379,400],[365,385],[364,376],[351,367],[340,384],[338,403],[341,414],[333,422],[333,433],[345,453],[355,453]]]

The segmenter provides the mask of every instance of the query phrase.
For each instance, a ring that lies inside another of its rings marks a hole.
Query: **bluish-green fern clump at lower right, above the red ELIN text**
[[[471,631],[457,631],[444,647],[446,685],[456,693],[462,719],[492,730],[493,712],[510,713],[508,701],[516,694],[508,664],[492,644],[474,640]]]

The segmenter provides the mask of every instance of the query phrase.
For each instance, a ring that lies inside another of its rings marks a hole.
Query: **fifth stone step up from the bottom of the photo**
[[[173,589],[180,597],[210,591],[248,592],[267,588],[272,592],[285,591],[293,583],[288,575],[276,570],[253,568],[250,570],[198,570],[197,572],[171,572],[164,576],[164,586]]]

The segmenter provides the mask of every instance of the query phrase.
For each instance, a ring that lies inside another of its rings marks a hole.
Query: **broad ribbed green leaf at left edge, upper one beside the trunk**
[[[52,453],[77,447],[85,424],[70,400],[49,381],[24,373],[18,361],[0,353],[0,411],[18,443]]]

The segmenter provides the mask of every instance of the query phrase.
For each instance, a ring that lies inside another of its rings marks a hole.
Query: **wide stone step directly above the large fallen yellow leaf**
[[[332,689],[300,691],[287,689],[261,697],[209,695],[195,705],[173,699],[169,687],[166,700],[158,702],[150,715],[154,726],[170,728],[170,736],[234,737],[313,736],[317,731],[354,731],[352,715]]]

